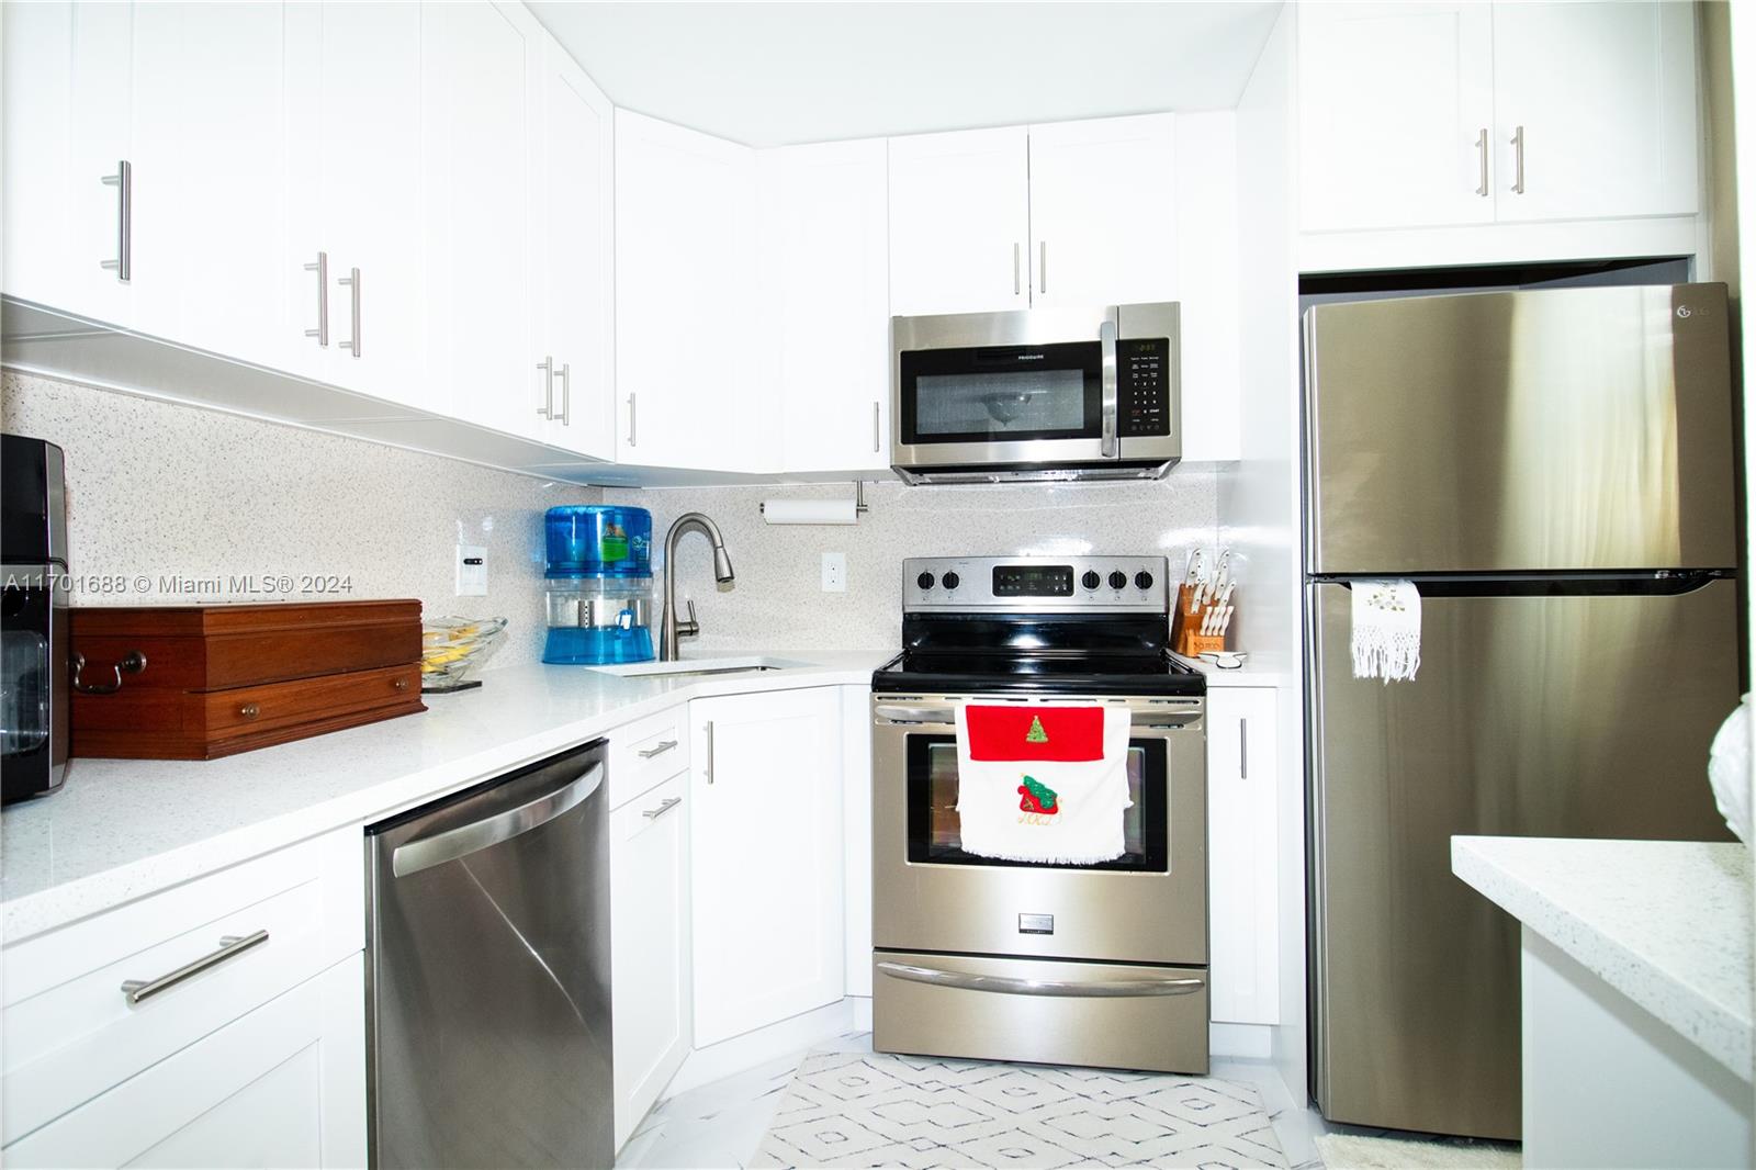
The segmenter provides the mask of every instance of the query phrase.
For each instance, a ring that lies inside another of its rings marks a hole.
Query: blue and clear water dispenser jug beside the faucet
[[[569,504],[543,518],[548,641],[543,661],[650,662],[653,516],[644,508]]]

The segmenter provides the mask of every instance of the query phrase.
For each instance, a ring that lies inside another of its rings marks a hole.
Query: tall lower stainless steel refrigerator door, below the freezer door
[[[1312,1080],[1331,1121],[1519,1137],[1517,922],[1452,834],[1730,840],[1738,589],[1422,596],[1415,682],[1356,680],[1345,585],[1312,629]]]

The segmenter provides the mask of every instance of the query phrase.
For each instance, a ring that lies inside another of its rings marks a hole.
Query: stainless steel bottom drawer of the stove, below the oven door
[[[1208,973],[878,950],[873,1047],[1038,1065],[1206,1073]]]

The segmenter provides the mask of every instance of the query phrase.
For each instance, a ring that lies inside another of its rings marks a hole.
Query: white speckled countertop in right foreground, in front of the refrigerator
[[[1450,868],[1751,1080],[1749,849],[1454,836]]]

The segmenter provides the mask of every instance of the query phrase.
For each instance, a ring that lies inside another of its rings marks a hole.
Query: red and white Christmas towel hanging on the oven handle
[[[957,819],[980,857],[1092,864],[1120,857],[1127,708],[957,708]]]

